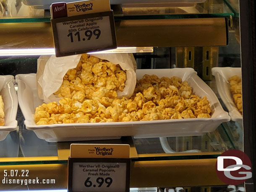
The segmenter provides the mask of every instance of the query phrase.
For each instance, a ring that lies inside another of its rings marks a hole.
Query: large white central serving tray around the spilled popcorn
[[[204,83],[192,68],[137,70],[137,78],[144,74],[162,76],[178,76],[187,80],[197,95],[207,98],[212,106],[212,118],[204,119],[170,119],[140,122],[106,122],[106,123],[72,123],[55,125],[36,125],[34,109],[43,101],[39,99],[36,86],[36,74],[16,75],[18,82],[18,101],[25,117],[28,130],[33,130],[37,137],[48,142],[70,140],[107,139],[120,136],[135,138],[157,138],[172,136],[203,135],[214,131],[222,122],[230,121],[227,112],[222,109],[219,100],[209,86]]]

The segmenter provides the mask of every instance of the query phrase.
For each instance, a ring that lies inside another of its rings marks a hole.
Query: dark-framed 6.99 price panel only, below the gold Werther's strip
[[[128,192],[130,163],[130,159],[70,159],[68,192]]]

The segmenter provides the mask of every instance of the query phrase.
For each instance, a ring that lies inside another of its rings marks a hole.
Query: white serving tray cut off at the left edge
[[[18,129],[16,121],[18,99],[13,83],[12,75],[0,75],[0,94],[3,98],[5,112],[5,125],[0,126],[0,141],[5,140],[9,132]]]

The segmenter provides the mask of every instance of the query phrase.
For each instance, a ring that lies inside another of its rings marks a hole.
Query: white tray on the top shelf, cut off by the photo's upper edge
[[[50,5],[52,3],[58,2],[74,2],[78,0],[22,0],[25,5],[34,6],[36,9],[50,9]],[[175,6],[183,6],[182,4],[192,5],[195,3],[204,3],[206,0],[110,0],[111,5],[118,5],[118,4],[140,4],[140,3],[176,3]]]

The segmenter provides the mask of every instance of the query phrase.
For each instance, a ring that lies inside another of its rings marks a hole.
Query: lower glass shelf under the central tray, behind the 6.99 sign
[[[162,142],[162,138],[130,137],[122,137],[120,140],[48,143],[37,138],[33,131],[26,130],[21,116],[19,110],[19,130],[10,132],[7,138],[0,142],[0,165],[65,164],[66,160],[59,160],[61,157],[58,157],[58,150],[61,146],[69,149],[71,143],[130,144],[136,149],[133,154],[131,152],[132,161],[209,159],[217,158],[225,150],[234,149],[234,144],[225,130],[228,125],[220,125],[217,130],[206,135],[168,137],[167,143]],[[173,151],[164,150],[168,147]],[[184,153],[186,150],[190,151]],[[67,157],[68,155],[66,159]]]

